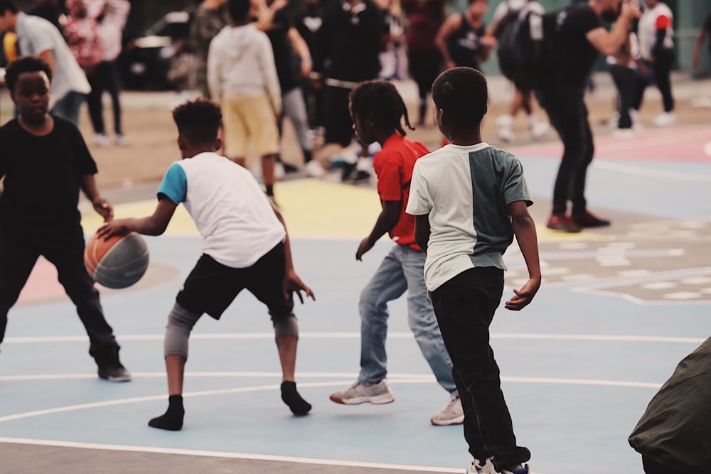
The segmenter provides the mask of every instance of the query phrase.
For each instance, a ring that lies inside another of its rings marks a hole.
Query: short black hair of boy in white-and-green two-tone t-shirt
[[[432,100],[456,126],[479,126],[486,114],[486,77],[474,68],[451,68],[434,80]]]

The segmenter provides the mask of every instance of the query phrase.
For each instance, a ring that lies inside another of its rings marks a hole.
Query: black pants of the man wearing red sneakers
[[[553,212],[585,212],[585,180],[595,147],[582,87],[547,87],[535,91],[540,106],[563,142],[563,156],[553,188]]]

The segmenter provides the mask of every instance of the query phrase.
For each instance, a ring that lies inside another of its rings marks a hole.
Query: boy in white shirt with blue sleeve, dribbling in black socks
[[[294,271],[289,235],[277,207],[249,171],[215,153],[222,146],[222,118],[218,104],[203,97],[176,107],[173,119],[183,159],[166,171],[154,214],[114,220],[97,231],[100,237],[130,231],[161,235],[183,203],[203,236],[203,254],[168,318],[164,350],[169,408],[149,421],[153,428],[183,427],[183,375],[191,330],[204,313],[219,319],[243,289],[269,308],[282,365],[282,401],[296,416],[311,410],[294,382],[299,326],[292,293],[301,303],[301,291],[316,298]]]

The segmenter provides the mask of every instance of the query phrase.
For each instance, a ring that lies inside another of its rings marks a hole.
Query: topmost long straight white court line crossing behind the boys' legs
[[[597,282],[596,282],[597,283]],[[605,283],[607,284],[607,283]],[[163,340],[163,334],[129,334],[119,335],[122,341],[133,340]],[[409,339],[412,333],[387,333],[390,339]],[[273,339],[274,333],[193,333],[191,340],[219,340],[219,339]],[[357,339],[360,333],[299,333],[299,338],[310,339]],[[5,338],[5,344],[31,344],[31,343],[78,343],[86,342],[89,338],[85,335],[68,336],[31,336]],[[670,336],[647,335],[603,335],[603,334],[550,334],[550,333],[491,333],[491,339],[530,339],[530,340],[594,340],[607,342],[626,343],[702,343],[705,338],[677,338]]]

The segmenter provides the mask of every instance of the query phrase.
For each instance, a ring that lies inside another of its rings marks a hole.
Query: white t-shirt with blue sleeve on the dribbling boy
[[[218,153],[172,163],[158,194],[183,203],[203,253],[232,268],[252,266],[287,235],[252,173]]]

